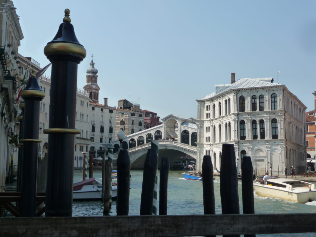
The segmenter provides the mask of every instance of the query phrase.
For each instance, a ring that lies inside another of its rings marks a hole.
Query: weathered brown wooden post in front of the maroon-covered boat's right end
[[[102,193],[103,193],[103,216],[110,213],[112,206],[112,167],[111,161],[104,161],[104,176],[102,175]],[[104,188],[103,188],[104,185]],[[103,192],[104,190],[104,192]]]

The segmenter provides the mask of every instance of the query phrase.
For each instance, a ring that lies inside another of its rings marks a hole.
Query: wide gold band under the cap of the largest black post
[[[44,48],[44,54],[47,56],[52,53],[72,53],[83,58],[85,58],[87,55],[87,51],[82,45],[63,42],[47,44]]]

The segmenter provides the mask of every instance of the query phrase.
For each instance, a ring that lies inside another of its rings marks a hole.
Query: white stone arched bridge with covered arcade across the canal
[[[163,124],[127,135],[122,149],[127,149],[131,159],[131,169],[143,169],[151,140],[159,141],[159,160],[168,157],[170,166],[184,155],[197,158],[197,125],[191,119],[170,114],[162,119]],[[120,147],[119,140],[112,142],[114,158]]]

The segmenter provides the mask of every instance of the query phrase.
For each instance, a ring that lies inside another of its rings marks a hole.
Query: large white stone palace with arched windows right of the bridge
[[[197,169],[210,155],[220,170],[222,144],[234,144],[236,165],[251,156],[254,171],[284,174],[284,167],[306,169],[306,106],[273,78],[242,78],[215,85],[215,92],[198,102]],[[257,174],[257,173],[256,173]]]

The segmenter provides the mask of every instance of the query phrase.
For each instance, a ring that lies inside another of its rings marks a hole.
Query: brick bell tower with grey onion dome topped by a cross
[[[91,57],[93,58],[93,55]],[[95,103],[99,103],[100,90],[100,87],[98,86],[97,73],[98,70],[94,68],[94,62],[93,59],[91,59],[90,67],[88,68],[86,75],[86,85],[83,87],[83,89],[88,92],[90,99],[92,99]]]

